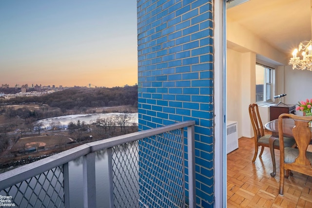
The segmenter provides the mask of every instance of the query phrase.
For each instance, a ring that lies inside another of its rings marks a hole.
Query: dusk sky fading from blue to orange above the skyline
[[[137,0],[0,0],[0,86],[137,83]]]

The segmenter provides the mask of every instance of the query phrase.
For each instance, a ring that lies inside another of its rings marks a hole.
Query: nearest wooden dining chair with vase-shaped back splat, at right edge
[[[285,117],[294,119],[295,126],[292,128],[292,134],[296,141],[296,148],[285,147],[283,143],[283,118]],[[290,170],[312,176],[312,152],[307,151],[311,141],[310,121],[312,121],[312,116],[283,113],[278,117],[278,134],[280,137],[279,194],[281,195],[284,192],[285,177],[288,178]]]

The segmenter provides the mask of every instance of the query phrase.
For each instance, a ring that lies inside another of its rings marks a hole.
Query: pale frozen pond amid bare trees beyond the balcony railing
[[[98,118],[113,118],[114,116],[127,114],[128,115],[128,125],[133,123],[138,123],[137,113],[88,113],[88,114],[73,114],[73,115],[63,115],[58,117],[46,118],[39,120],[38,122],[42,124],[43,128],[49,128],[53,126],[52,124],[59,124],[63,127],[67,127],[70,122],[77,123],[79,120],[80,123],[85,122],[89,124],[90,122],[96,121]]]

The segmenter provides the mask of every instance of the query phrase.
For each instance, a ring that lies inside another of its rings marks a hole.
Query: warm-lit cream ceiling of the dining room
[[[291,56],[301,41],[312,38],[311,5],[312,0],[249,0],[227,9],[227,19]]]

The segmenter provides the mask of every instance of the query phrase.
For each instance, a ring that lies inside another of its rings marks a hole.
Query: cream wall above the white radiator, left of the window
[[[248,106],[255,100],[255,59],[254,53],[227,49],[227,120],[237,121],[238,137],[254,136]]]

